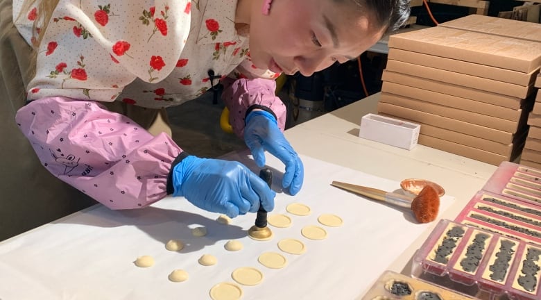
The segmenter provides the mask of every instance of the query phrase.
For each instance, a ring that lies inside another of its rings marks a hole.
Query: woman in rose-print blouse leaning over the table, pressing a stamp
[[[273,78],[356,58],[403,24],[409,1],[15,0],[13,11],[37,47],[17,125],[49,172],[113,209],[173,194],[236,217],[273,210],[275,193],[246,166],[185,153],[148,124],[220,81],[235,133],[260,167],[264,151],[284,163],[294,195],[304,171]]]

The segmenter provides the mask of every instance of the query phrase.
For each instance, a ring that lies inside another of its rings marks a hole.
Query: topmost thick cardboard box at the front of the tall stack
[[[541,64],[541,43],[436,26],[389,37],[389,48],[529,73]]]

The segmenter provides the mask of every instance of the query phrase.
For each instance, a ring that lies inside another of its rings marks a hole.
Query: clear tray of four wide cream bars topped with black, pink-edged
[[[478,299],[541,299],[541,247],[441,220],[413,257],[411,276]]]

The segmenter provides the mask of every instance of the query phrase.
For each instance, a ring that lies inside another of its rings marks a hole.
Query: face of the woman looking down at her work
[[[250,57],[260,69],[277,73],[310,76],[334,61],[357,58],[385,31],[353,0],[274,0],[269,15],[261,13],[262,3],[252,3]]]

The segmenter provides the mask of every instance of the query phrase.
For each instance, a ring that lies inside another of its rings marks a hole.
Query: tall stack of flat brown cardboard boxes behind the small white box
[[[541,65],[540,24],[469,15],[391,35],[388,46],[380,115],[421,124],[418,142],[429,147],[493,165],[519,156]]]

